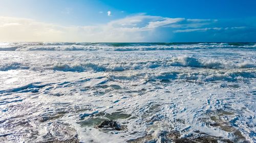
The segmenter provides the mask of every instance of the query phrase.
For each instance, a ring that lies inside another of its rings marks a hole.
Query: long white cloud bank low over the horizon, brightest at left
[[[214,27],[215,22],[214,19],[137,14],[100,25],[63,26],[27,18],[0,17],[0,41],[155,42],[175,39],[178,33],[246,30],[244,26]]]

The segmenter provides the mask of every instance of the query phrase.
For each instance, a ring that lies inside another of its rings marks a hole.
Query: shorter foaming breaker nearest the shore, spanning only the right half
[[[247,78],[255,78],[256,72],[254,70],[224,70],[224,71],[170,71],[159,73],[140,73],[140,74],[123,74],[115,75],[108,74],[106,77],[113,81],[131,81],[131,80],[145,80],[145,81],[168,81],[168,80],[200,80],[200,81],[237,81]]]

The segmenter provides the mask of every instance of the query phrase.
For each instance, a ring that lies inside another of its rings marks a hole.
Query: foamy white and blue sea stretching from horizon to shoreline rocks
[[[256,142],[255,95],[255,43],[0,43],[0,142]]]

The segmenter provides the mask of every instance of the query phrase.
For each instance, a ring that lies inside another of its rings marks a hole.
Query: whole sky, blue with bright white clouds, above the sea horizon
[[[0,41],[256,42],[256,1],[0,1]]]

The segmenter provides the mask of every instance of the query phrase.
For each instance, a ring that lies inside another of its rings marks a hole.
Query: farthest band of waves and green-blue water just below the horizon
[[[0,51],[32,51],[32,50],[104,50],[104,51],[136,51],[136,50],[186,50],[212,48],[246,48],[256,49],[255,43],[72,43],[72,42],[27,42],[0,44]]]

